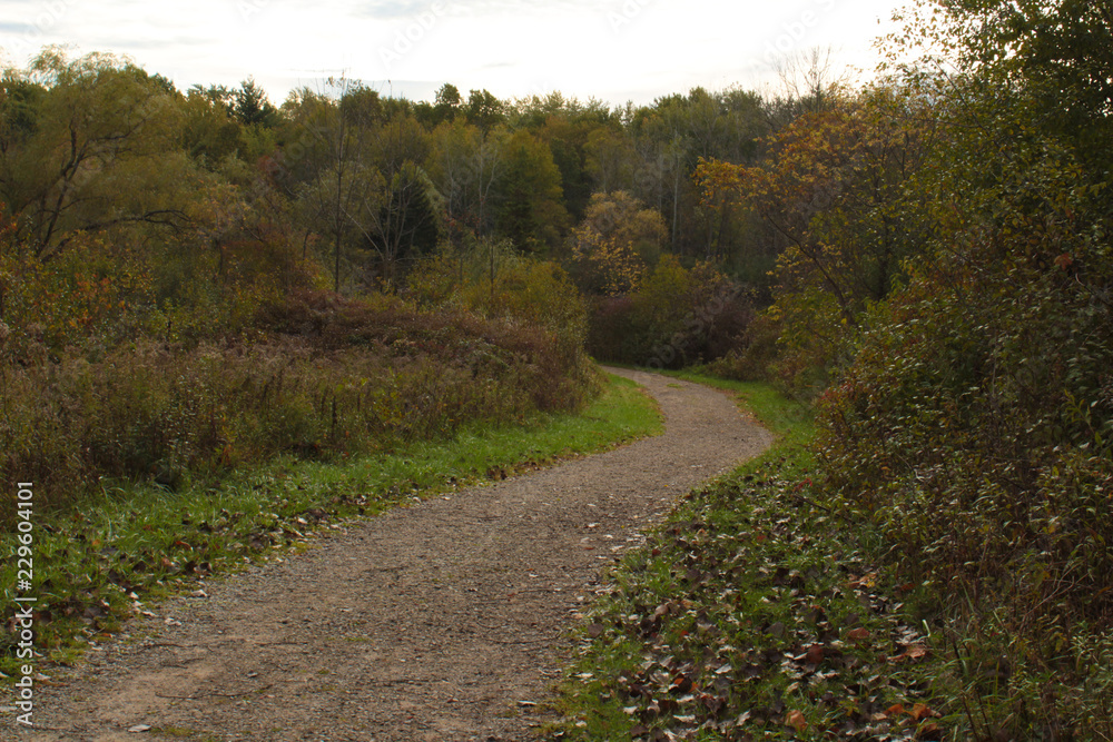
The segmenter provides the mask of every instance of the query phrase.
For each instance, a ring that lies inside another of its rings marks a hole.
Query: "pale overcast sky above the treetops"
[[[331,75],[429,99],[560,90],[651,103],[696,86],[775,86],[786,55],[834,47],[873,69],[903,0],[0,0],[0,55],[125,55],[180,89],[254,76],[282,102]]]

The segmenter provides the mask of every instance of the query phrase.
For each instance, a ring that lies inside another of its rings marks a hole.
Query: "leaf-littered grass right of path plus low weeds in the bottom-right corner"
[[[885,524],[823,485],[810,405],[678,376],[731,390],[778,441],[611,568],[546,739],[1110,739],[1106,636],[1080,631],[1071,665],[1017,666],[1015,615],[967,633],[936,585],[894,563]]]

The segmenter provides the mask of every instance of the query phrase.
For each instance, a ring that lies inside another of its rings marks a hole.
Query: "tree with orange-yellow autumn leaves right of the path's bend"
[[[904,259],[932,236],[906,198],[927,154],[924,103],[878,88],[799,117],[754,166],[703,160],[698,180],[717,210],[741,201],[776,233],[782,340],[833,360],[847,328],[886,298]]]

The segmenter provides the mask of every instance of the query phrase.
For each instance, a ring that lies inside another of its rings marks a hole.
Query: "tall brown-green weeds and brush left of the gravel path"
[[[0,475],[35,482],[53,508],[105,477],[179,489],[276,456],[338,461],[572,412],[598,388],[582,354],[543,329],[326,296],[230,338],[41,355],[0,374]]]

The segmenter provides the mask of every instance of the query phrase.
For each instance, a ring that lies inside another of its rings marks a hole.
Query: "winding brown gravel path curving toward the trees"
[[[40,685],[46,730],[9,716],[0,739],[529,739],[601,568],[677,496],[771,442],[719,392],[611,370],[658,399],[664,435],[349,523],[211,581]],[[128,731],[142,726],[162,733]]]

